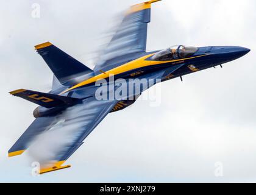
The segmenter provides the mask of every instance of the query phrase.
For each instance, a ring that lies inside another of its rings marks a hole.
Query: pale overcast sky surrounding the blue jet
[[[138,101],[108,115],[66,161],[32,177],[27,152],[7,151],[37,105],[9,91],[51,89],[34,45],[51,41],[93,68],[94,52],[129,5],[143,0],[2,1],[0,7],[0,182],[256,182],[256,2],[163,0],[152,5],[148,51],[174,44],[250,48],[224,68],[162,83],[161,104]],[[40,18],[32,18],[32,4]],[[151,89],[152,90],[152,89]],[[223,177],[215,176],[215,163]]]

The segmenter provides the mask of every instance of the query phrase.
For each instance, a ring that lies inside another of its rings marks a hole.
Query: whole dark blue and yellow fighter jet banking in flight
[[[151,21],[151,4],[160,0],[151,0],[133,5],[127,11],[116,34],[108,44],[94,69],[90,69],[53,44],[47,42],[35,46],[54,73],[52,90],[41,93],[31,90],[10,92],[13,96],[24,98],[40,105],[34,111],[35,121],[21,135],[9,150],[9,157],[23,154],[41,133],[52,130],[61,122],[75,127],[74,137],[63,146],[59,154],[52,157],[51,165],[42,166],[40,173],[68,168],[63,163],[84,142],[91,131],[110,112],[122,110],[136,99],[108,99],[99,101],[95,97],[99,86],[95,83],[110,76],[115,79],[161,79],[166,81],[185,74],[207,68],[215,68],[238,59],[250,49],[238,46],[172,46],[160,51],[146,52],[147,28]],[[155,84],[155,83],[154,83]],[[140,94],[145,89],[140,89]],[[108,91],[109,92],[109,91]],[[79,112],[72,110],[74,107]],[[82,114],[80,114],[82,111]],[[74,127],[73,127],[74,128]]]

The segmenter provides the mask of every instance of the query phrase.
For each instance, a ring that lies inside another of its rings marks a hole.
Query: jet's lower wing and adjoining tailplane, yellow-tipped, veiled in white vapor
[[[62,164],[84,143],[116,103],[91,97],[57,116],[38,118],[10,149],[9,156],[22,154],[31,145],[29,155],[40,162],[41,174],[68,168],[69,165]]]

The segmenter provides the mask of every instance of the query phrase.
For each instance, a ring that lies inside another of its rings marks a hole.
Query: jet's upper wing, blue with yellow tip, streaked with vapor
[[[143,2],[133,5],[127,10],[115,35],[102,52],[94,71],[107,71],[110,66],[113,68],[112,65],[123,60],[127,54],[146,51],[147,29],[148,23],[151,21],[151,4],[157,1],[161,0]]]

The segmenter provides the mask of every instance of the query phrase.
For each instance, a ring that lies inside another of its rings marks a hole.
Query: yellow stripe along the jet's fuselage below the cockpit
[[[151,57],[154,54],[144,55],[143,57],[140,57],[140,58],[138,58],[136,60],[133,60],[133,61],[128,62],[128,63],[125,63],[124,65],[121,65],[121,66],[118,66],[116,68],[110,69],[109,71],[106,71],[105,73],[98,74],[98,75],[96,75],[94,77],[91,77],[90,79],[87,79],[87,80],[84,80],[84,81],[78,83],[77,85],[74,85],[71,88],[68,88],[67,90],[63,91],[60,94],[66,93],[68,91],[74,90],[76,88],[79,88],[79,87],[82,87],[82,86],[85,86],[85,85],[88,85],[90,83],[94,83],[97,80],[106,79],[110,75],[111,76],[118,75],[118,74],[121,74],[121,73],[126,73],[127,71],[131,71],[133,69],[143,68],[143,67],[146,67],[146,66],[161,65],[163,63],[170,63],[170,62],[178,62],[178,61],[183,61],[183,60],[190,60],[190,59],[195,59],[197,57],[203,57],[205,55],[208,55],[208,54],[205,54],[205,55],[199,55],[199,56],[196,56],[196,57],[190,57],[190,58],[187,58],[187,59],[177,59],[177,60],[170,60],[170,61],[151,61],[151,60],[146,60],[146,59],[148,59],[149,57]]]

